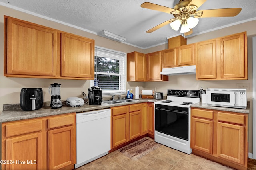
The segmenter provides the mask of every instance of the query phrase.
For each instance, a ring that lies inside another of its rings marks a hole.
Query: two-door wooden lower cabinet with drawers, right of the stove
[[[246,170],[248,114],[193,107],[191,110],[192,152]]]

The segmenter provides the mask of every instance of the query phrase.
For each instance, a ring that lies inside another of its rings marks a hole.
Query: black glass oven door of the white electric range
[[[188,108],[155,106],[155,130],[188,141]]]

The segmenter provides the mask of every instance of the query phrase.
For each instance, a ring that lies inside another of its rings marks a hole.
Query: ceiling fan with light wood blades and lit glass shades
[[[242,8],[223,8],[196,11],[202,4],[204,4],[204,2],[206,2],[206,0],[180,0],[180,2],[176,4],[174,8],[169,8],[150,2],[144,2],[141,4],[142,8],[166,12],[174,16],[174,18],[160,23],[159,25],[149,29],[146,32],[152,33],[153,31],[156,31],[157,29],[170,23],[170,26],[175,31],[178,31],[181,25],[180,33],[182,33],[182,36],[187,36],[193,33],[192,28],[198,24],[198,18],[232,17],[239,14],[239,12],[242,10]]]

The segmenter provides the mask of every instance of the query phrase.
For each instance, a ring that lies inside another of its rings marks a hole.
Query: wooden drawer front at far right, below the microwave
[[[225,121],[230,123],[237,123],[244,125],[244,115],[236,115],[232,113],[218,112],[218,121]]]

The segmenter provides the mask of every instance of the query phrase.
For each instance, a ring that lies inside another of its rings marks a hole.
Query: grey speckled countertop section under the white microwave
[[[247,103],[246,109],[236,109],[236,108],[229,108],[229,107],[218,107],[218,106],[207,106],[206,103],[196,103],[190,105],[191,107],[202,108],[202,109],[212,109],[212,110],[221,110],[221,111],[231,111],[237,113],[247,113],[249,114],[250,111],[250,102]]]

